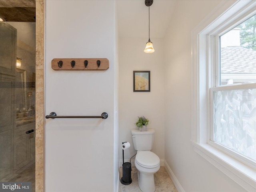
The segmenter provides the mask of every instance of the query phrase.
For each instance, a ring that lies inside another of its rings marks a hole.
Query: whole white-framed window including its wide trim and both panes
[[[247,191],[256,190],[256,64],[244,30],[256,1],[222,1],[192,31],[194,150]]]

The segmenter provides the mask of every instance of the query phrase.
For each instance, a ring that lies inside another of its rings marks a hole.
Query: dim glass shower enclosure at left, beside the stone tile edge
[[[35,191],[35,22],[0,22],[0,181]]]

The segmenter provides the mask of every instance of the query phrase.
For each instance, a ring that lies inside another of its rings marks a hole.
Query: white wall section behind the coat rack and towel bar
[[[118,162],[114,1],[46,0],[46,192],[113,192]],[[108,58],[107,71],[55,71],[53,58]],[[114,151],[115,150],[115,151]],[[115,163],[115,165],[114,165]]]

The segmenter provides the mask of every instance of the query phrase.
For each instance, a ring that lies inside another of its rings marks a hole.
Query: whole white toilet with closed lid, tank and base
[[[143,192],[154,192],[156,190],[154,173],[160,169],[159,157],[151,152],[154,143],[154,129],[140,131],[132,129],[132,141],[137,154],[135,166],[138,170],[138,183]]]

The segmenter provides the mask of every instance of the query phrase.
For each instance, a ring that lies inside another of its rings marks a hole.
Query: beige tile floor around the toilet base
[[[132,183],[130,185],[123,185],[120,182],[122,167],[119,169],[119,174],[119,192],[142,192],[138,185],[138,170],[136,167],[132,167]],[[178,192],[164,167],[160,167],[158,172],[154,174],[154,180],[156,185],[155,192]]]

